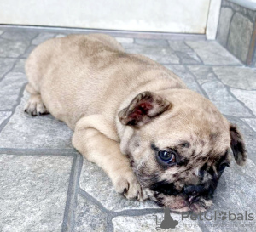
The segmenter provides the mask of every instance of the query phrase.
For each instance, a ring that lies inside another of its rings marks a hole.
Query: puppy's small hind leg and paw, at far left
[[[32,85],[28,83],[26,85],[26,91],[30,93],[30,98],[28,99],[24,111],[30,116],[40,116],[49,114],[49,111],[46,109],[40,93],[38,93]]]

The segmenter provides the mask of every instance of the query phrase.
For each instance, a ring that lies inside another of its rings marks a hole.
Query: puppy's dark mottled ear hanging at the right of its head
[[[245,148],[245,144],[242,139],[241,133],[238,131],[236,125],[230,124],[230,138],[230,145],[236,163],[242,166],[247,161],[247,150]]]

